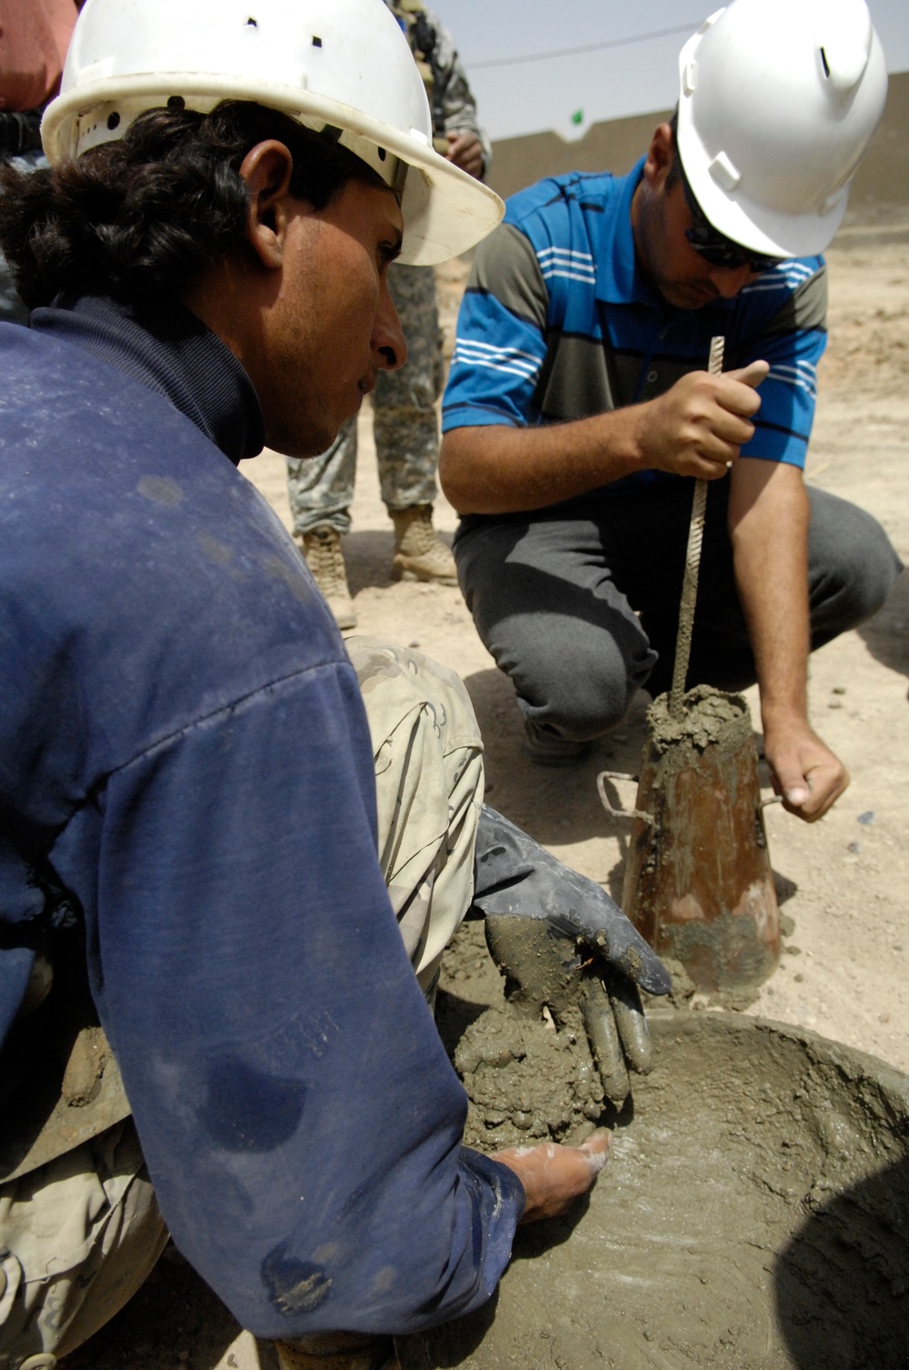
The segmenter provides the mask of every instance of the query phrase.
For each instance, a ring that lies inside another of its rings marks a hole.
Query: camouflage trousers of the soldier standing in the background
[[[438,495],[438,421],[442,338],[431,267],[394,264],[392,299],[407,338],[407,364],[379,371],[372,392],[372,432],[379,489],[387,510],[431,504]],[[287,458],[287,495],[294,533],[330,525],[350,529],[357,460],[357,421],[349,419],[322,456]]]

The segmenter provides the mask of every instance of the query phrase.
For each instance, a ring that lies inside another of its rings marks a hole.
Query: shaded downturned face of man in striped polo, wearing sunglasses
[[[661,127],[669,132],[668,125]],[[663,299],[678,310],[701,310],[713,300],[731,300],[760,273],[752,271],[747,263],[739,267],[713,266],[689,242],[684,234],[694,219],[684,186],[676,179],[667,188],[674,155],[671,134],[667,156],[660,160],[663,151],[654,136],[632,206],[634,244],[641,264]]]

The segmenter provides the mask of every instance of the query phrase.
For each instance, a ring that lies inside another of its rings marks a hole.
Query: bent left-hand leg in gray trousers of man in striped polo
[[[608,519],[582,516],[478,521],[456,538],[464,599],[517,690],[534,760],[579,755],[648,681],[654,653],[616,584],[613,543]]]

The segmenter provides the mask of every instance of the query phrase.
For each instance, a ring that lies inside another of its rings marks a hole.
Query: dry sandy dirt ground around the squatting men
[[[808,480],[882,521],[909,563],[909,225],[839,236],[828,253],[830,348]],[[449,334],[463,263],[439,273]],[[242,467],[289,526],[283,460]],[[437,526],[456,515],[439,499]],[[520,752],[509,682],[481,645],[457,589],[392,584],[392,525],[379,501],[368,408],[360,419],[353,532],[345,543],[359,630],[418,645],[464,678],[486,740],[487,795],[557,856],[613,895],[622,888],[628,825],[604,812],[601,770],[635,773],[642,707],[574,770],[534,767]],[[852,786],[820,823],[765,810],[783,912],[793,921],[779,970],[747,1011],[799,1023],[909,1073],[909,573],[883,611],[812,659],[815,726],[843,758]],[[760,727],[756,692],[749,692]],[[768,790],[769,793],[769,790]],[[635,786],[612,799],[631,808]],[[701,1004],[708,1008],[708,1004]],[[270,1347],[241,1333],[171,1252],[99,1345],[73,1358],[97,1370],[261,1370]]]

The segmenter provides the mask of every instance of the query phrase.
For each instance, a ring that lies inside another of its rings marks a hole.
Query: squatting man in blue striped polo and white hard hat
[[[884,58],[864,0],[735,0],[679,77],[678,119],[630,175],[542,181],[478,249],[439,471],[465,599],[550,764],[586,755],[638,686],[668,689],[691,478],[709,481],[687,684],[758,682],[775,784],[813,821],[847,775],[808,721],[809,651],[899,571],[872,518],[802,481],[819,253]]]

